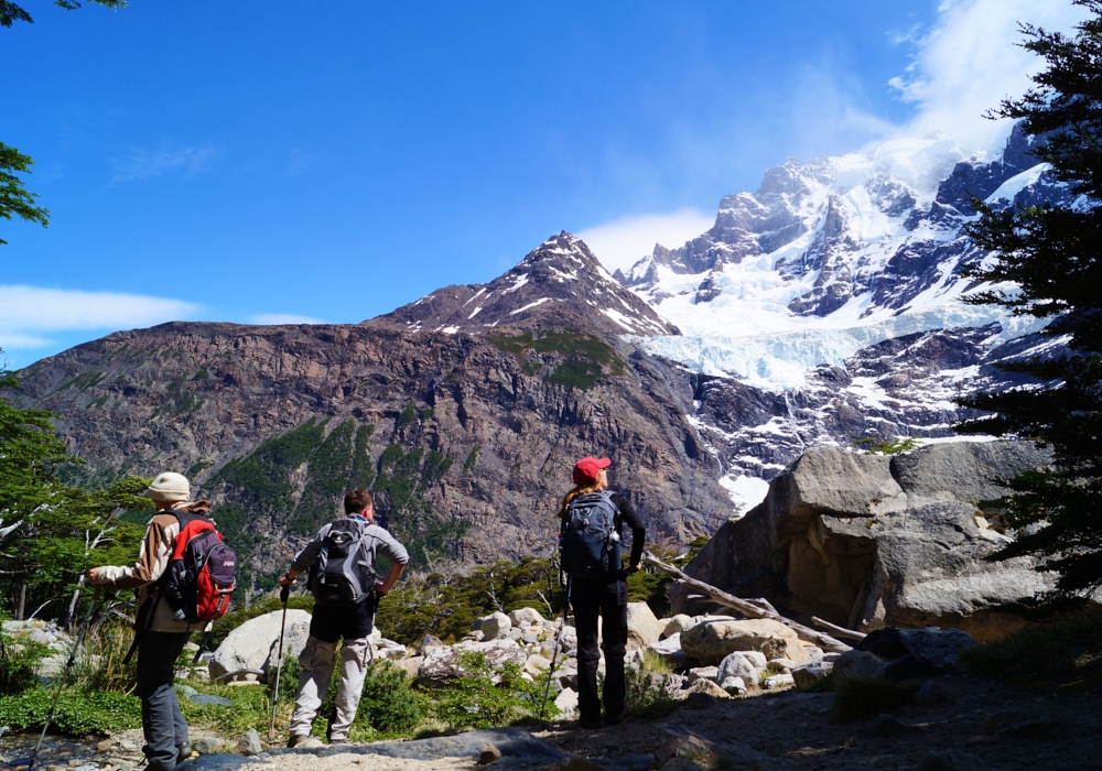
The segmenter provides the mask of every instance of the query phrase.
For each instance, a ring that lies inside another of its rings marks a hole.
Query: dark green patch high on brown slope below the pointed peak
[[[624,360],[607,344],[593,335],[566,329],[533,332],[531,335],[497,335],[493,339],[499,350],[516,354],[525,372],[537,374],[554,386],[593,388],[602,377],[624,374]]]

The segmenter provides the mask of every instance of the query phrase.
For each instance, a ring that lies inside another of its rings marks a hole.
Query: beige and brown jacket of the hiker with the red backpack
[[[203,514],[208,508],[207,501],[196,501],[176,507],[181,511]],[[138,562],[133,565],[106,565],[97,568],[96,579],[93,583],[109,589],[137,589],[138,607],[140,608],[149,599],[153,585],[168,569],[169,558],[172,556],[172,550],[179,534],[180,521],[173,514],[159,511],[145,526],[145,537],[141,542]],[[164,599],[161,599],[156,604],[150,631],[194,632],[205,626],[202,622],[176,621],[172,618],[172,608]]]

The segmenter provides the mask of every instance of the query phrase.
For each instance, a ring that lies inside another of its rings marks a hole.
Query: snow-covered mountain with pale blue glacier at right
[[[790,160],[723,198],[707,232],[617,271],[682,330],[641,343],[695,379],[690,419],[736,500],[807,446],[948,437],[954,397],[1014,382],[994,361],[1052,345],[1031,334],[1042,323],[961,301],[975,289],[961,268],[986,257],[960,232],[972,195],[1069,195],[1035,141],[1015,129],[1002,153],[931,137]]]

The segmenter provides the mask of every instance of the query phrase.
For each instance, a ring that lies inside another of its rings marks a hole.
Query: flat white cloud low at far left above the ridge
[[[41,348],[51,344],[42,333],[147,327],[198,311],[168,297],[0,285],[0,347]]]

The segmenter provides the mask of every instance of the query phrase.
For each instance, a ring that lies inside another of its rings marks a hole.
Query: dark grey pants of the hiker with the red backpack
[[[137,693],[149,771],[173,768],[179,748],[187,743],[187,724],[172,686],[176,658],[188,637],[187,632],[149,632],[138,645]]]

